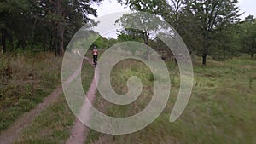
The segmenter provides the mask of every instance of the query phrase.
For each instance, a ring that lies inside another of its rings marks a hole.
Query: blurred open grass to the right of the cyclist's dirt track
[[[114,106],[98,97],[96,107],[102,112],[127,117],[140,112],[150,101],[150,72],[145,66],[132,63],[123,61],[113,68],[113,89],[124,94],[127,78],[137,75],[144,82],[145,91],[129,106]],[[189,106],[174,123],[169,122],[169,117],[179,90],[179,75],[176,66],[171,63],[167,66],[172,78],[171,98],[153,124],[130,135],[104,135],[90,130],[87,143],[256,143],[255,60],[237,58],[209,61],[207,66],[195,64],[195,84]]]

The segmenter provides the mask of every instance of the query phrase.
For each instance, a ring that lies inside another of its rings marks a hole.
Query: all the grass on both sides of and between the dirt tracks
[[[2,55],[0,57],[1,72],[7,72],[5,69],[9,65],[9,59],[10,66],[13,68],[10,78],[7,73],[1,74],[1,79],[8,79],[6,84],[1,81],[0,89],[0,126],[2,130],[12,124],[20,114],[35,107],[57,84],[60,84],[60,75],[57,73],[61,67],[55,67],[55,64],[49,62],[53,59],[59,61],[59,59],[54,58],[54,55],[38,56],[43,58],[38,60],[38,57],[37,59],[25,56],[13,56],[11,59]],[[21,67],[21,64],[24,68]],[[31,66],[32,68],[30,68]],[[44,66],[44,70],[42,66]],[[178,67],[172,62],[166,62],[166,66],[168,66],[172,80],[171,97],[164,112],[153,124],[130,135],[105,135],[90,130],[86,143],[256,143],[254,136],[256,134],[256,60],[247,57],[223,62],[209,60],[207,66],[201,66],[196,60],[194,88],[189,105],[181,118],[174,123],[170,123],[169,118],[179,90],[179,72]],[[90,87],[93,70],[89,64],[84,65],[82,75],[85,91]],[[28,97],[25,95],[28,92],[36,91],[32,91],[32,86],[28,87],[30,89],[25,89],[24,84],[20,84],[20,81],[27,81],[26,78],[29,78],[25,75],[27,72],[36,74],[32,80],[41,81],[36,87],[41,89],[41,92],[44,90],[39,97],[35,96],[37,93],[32,93]],[[119,62],[113,68],[111,84],[117,93],[125,94],[127,92],[126,81],[133,75],[141,78],[143,82],[143,93],[136,102],[128,106],[116,106],[105,101],[97,93],[95,107],[114,117],[127,117],[142,111],[148,105],[154,92],[154,78],[147,66],[135,60]],[[15,83],[10,83],[14,79]],[[49,81],[55,83],[50,85],[47,83]],[[9,84],[15,84],[17,90],[10,89]],[[3,91],[3,88],[6,91]],[[17,93],[20,96],[17,97]],[[18,105],[20,101],[21,104]],[[22,101],[31,103],[22,103]],[[8,121],[5,120],[7,118],[9,118]],[[52,103],[22,131],[20,139],[15,143],[65,143],[70,135],[74,119],[73,113],[67,107],[65,97],[61,95],[58,101]]]

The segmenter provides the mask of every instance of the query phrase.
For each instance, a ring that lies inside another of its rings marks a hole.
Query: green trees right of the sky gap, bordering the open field
[[[241,20],[237,0],[119,0],[119,3],[166,20],[183,37],[190,53],[202,58],[204,65],[209,55],[215,60],[225,60],[241,53],[252,57],[256,54],[256,19],[249,15]],[[124,23],[129,20],[123,17],[121,25]],[[122,32],[130,36],[134,33],[150,44],[150,30]],[[159,45],[160,41],[155,39],[152,43]]]

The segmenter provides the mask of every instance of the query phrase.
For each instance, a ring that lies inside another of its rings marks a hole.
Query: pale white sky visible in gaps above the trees
[[[256,0],[239,0],[238,3],[239,8],[241,9],[241,13],[245,12],[245,14],[241,15],[241,19],[244,20],[249,14],[252,14],[256,17]],[[97,9],[98,17],[102,17],[106,14],[112,14],[116,12],[124,12],[129,11],[129,9],[125,9],[125,6],[121,6],[120,3],[117,3],[116,0],[102,0],[102,3],[98,6],[94,6]],[[114,24],[114,20],[109,21],[109,23]],[[101,33],[101,32],[100,32]],[[102,35],[103,34],[103,35]],[[116,38],[116,32],[106,32],[101,33],[103,37],[113,37]]]

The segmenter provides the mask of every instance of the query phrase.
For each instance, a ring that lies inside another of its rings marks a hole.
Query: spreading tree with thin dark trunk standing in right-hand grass
[[[218,30],[234,24],[240,19],[237,0],[188,0],[187,14],[195,19],[195,25],[201,32],[200,47],[194,49],[202,57],[202,64],[207,64],[207,55],[214,50],[214,45],[218,43],[216,33]],[[194,36],[196,37],[196,36]]]

